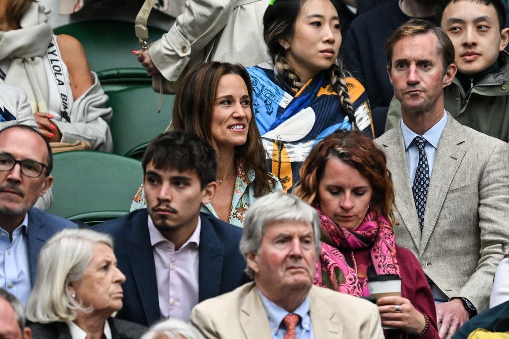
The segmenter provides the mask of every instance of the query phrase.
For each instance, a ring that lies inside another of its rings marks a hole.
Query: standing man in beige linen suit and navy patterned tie
[[[411,20],[386,44],[401,102],[398,127],[376,139],[395,188],[396,241],[430,279],[440,336],[488,308],[500,244],[509,237],[509,149],[444,110],[456,74],[454,47],[431,23]]]

